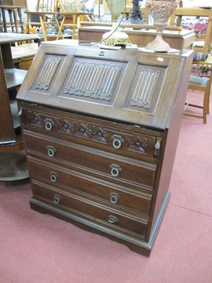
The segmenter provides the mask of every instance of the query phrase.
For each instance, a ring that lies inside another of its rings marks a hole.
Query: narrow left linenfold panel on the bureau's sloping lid
[[[49,89],[49,85],[52,82],[60,61],[61,59],[59,57],[52,56],[47,58],[44,67],[40,71],[40,76],[35,83],[35,88],[44,89],[45,91]]]

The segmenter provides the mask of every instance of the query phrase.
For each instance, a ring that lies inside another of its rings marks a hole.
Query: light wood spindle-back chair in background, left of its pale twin
[[[30,25],[40,25],[45,41],[47,41],[47,25],[56,25],[59,30],[59,22],[57,21],[57,0],[37,0],[36,11],[25,11],[25,33],[29,33]],[[37,16],[39,22],[30,21],[32,16]],[[61,33],[61,37],[63,37]]]

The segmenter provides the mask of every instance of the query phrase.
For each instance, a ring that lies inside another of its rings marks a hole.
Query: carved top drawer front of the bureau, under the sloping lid
[[[117,123],[113,123],[114,127],[109,127],[102,125],[101,120],[98,120],[99,123],[97,123],[97,119],[94,122],[88,117],[84,117],[85,120],[82,119],[82,116],[80,116],[81,119],[73,118],[70,113],[66,113],[64,117],[27,108],[24,109],[23,115],[25,129],[73,141],[76,144],[99,147],[115,154],[133,156],[137,159],[158,159],[159,156],[160,138],[122,130]],[[126,125],[124,127],[127,128]],[[129,126],[129,128],[132,127]]]

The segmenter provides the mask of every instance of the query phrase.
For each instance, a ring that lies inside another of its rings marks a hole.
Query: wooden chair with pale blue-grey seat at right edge
[[[199,77],[199,76],[190,76],[189,79],[189,89],[192,89],[194,91],[203,91],[204,92],[204,100],[203,100],[203,105],[196,105],[194,103],[185,103],[185,108],[184,108],[184,115],[189,116],[189,117],[196,117],[204,120],[204,124],[206,124],[207,121],[207,114],[209,114],[209,102],[210,102],[210,92],[211,92],[211,83],[212,83],[212,71],[211,75],[209,76],[209,79],[206,79],[204,77]],[[191,112],[187,112],[187,108],[192,107],[192,108],[200,108],[203,110],[202,115],[199,114],[193,114]]]

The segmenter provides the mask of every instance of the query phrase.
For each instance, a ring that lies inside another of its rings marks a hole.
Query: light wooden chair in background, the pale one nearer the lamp
[[[93,21],[93,13],[81,11],[77,0],[58,0],[60,6],[61,24],[57,40],[65,27],[72,28],[72,39],[78,39],[77,31],[81,25],[81,21]]]

